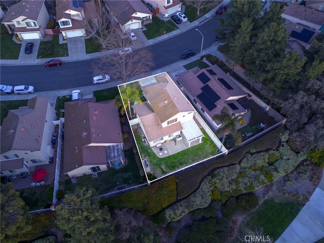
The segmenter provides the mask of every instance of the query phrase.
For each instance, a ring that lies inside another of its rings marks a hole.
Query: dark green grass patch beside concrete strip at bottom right
[[[275,241],[296,218],[304,204],[286,197],[272,197],[252,213],[243,224],[250,229],[263,228],[263,235]]]

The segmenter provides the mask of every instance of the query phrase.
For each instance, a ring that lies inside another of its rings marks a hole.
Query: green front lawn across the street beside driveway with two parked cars
[[[152,39],[178,29],[178,26],[171,20],[164,21],[153,17],[152,21],[152,23],[145,25],[146,30],[143,31],[147,39]]]

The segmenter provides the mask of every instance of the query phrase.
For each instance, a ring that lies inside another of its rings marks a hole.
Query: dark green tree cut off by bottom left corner
[[[1,242],[17,242],[31,229],[28,207],[12,183],[1,184]]]

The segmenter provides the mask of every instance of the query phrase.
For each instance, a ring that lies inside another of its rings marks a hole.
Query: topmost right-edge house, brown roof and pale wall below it
[[[319,30],[324,24],[324,12],[298,4],[285,6],[284,10],[284,13],[281,14],[282,18],[293,23],[301,24],[309,29]],[[307,33],[303,35],[307,35]]]

